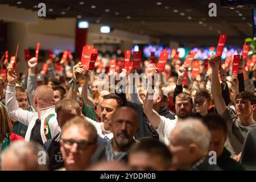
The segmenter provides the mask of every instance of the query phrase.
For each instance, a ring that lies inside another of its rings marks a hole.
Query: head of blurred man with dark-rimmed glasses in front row
[[[60,170],[85,170],[96,149],[97,131],[92,123],[81,117],[71,119],[62,127],[60,151],[65,167]]]

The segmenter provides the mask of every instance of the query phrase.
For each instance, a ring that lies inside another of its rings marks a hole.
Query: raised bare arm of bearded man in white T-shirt
[[[143,104],[143,111],[146,114],[146,117],[148,121],[151,123],[151,125],[155,129],[158,129],[161,118],[160,118],[160,115],[155,110],[153,110],[154,92],[152,92],[152,87],[154,86],[154,76],[156,75],[157,75],[157,71],[156,69],[153,69],[153,71],[150,73],[150,78],[152,78],[152,85],[148,86],[145,101]]]

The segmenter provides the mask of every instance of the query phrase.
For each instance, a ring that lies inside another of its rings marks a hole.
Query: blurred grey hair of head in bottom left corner
[[[39,157],[41,156],[42,152],[45,154],[45,163],[39,164]],[[19,160],[21,164],[24,164],[24,166],[29,167],[25,170],[34,170],[34,171],[46,171],[48,170],[49,165],[49,156],[47,154],[47,151],[44,150],[43,146],[41,146],[39,143],[35,142],[24,142],[24,141],[16,141],[10,144],[6,148],[5,151],[1,154],[1,168],[2,168],[2,162],[5,159],[5,156],[8,154],[15,154],[15,158]],[[31,154],[37,156],[37,160],[33,161],[31,163],[31,160],[28,159],[31,158]],[[35,163],[34,163],[35,162]]]

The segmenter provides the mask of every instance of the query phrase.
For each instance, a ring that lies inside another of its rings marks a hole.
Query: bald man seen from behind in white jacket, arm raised
[[[6,90],[6,110],[11,118],[28,126],[25,140],[34,140],[43,146],[48,139],[60,133],[57,123],[53,90],[47,85],[38,86],[34,95],[36,112],[30,112],[19,108],[15,99],[15,82],[18,73],[11,68],[7,75],[8,85]]]

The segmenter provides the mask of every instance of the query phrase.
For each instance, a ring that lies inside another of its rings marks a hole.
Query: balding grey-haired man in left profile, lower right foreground
[[[221,170],[209,163],[212,162],[208,155],[209,145],[210,131],[199,119],[188,118],[177,122],[171,131],[169,144],[174,167],[193,171]]]

